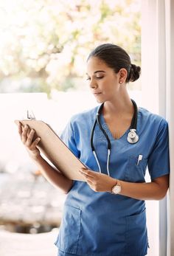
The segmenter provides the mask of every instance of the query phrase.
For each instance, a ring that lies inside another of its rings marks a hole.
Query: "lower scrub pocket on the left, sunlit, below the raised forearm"
[[[60,225],[58,240],[55,245],[64,252],[77,253],[80,234],[81,210],[67,204],[63,208],[63,218]]]

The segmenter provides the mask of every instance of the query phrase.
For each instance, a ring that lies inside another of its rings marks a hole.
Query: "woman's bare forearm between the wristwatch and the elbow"
[[[139,200],[160,200],[167,193],[167,188],[161,187],[156,182],[133,183],[120,181],[122,196],[129,196]]]

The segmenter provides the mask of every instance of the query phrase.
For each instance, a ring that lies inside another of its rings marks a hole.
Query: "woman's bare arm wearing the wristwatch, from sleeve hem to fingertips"
[[[119,195],[128,196],[138,200],[160,200],[164,198],[169,187],[169,175],[153,179],[148,183],[126,182],[112,178],[104,173],[81,168],[80,173],[86,178],[86,182],[96,192],[110,192],[116,184],[121,185]]]

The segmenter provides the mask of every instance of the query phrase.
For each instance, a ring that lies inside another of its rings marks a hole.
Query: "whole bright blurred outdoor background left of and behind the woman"
[[[60,134],[72,114],[97,105],[86,59],[99,44],[122,46],[141,66],[140,4],[0,0],[0,255],[56,255],[66,198],[29,159],[14,120],[32,110]],[[141,105],[141,79],[128,90]]]

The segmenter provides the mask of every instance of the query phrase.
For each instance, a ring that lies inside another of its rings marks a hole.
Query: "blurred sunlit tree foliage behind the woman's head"
[[[0,92],[83,88],[88,53],[106,42],[140,64],[139,2],[0,0]]]

